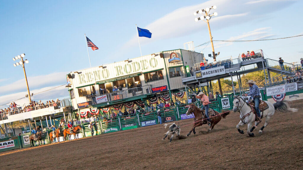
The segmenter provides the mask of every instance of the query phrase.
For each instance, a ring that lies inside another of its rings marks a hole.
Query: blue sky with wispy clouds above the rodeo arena
[[[21,67],[12,57],[25,53],[30,89],[66,83],[70,71],[89,67],[84,34],[99,50],[89,49],[92,66],[140,56],[136,28],[149,29],[152,38],[140,38],[142,54],[195,46],[209,41],[206,24],[195,22],[198,9],[217,5],[211,18],[214,40],[252,40],[303,34],[302,1],[1,1],[0,105],[26,94]],[[237,57],[263,49],[269,58],[299,62],[302,38],[245,43],[215,43],[220,57]],[[211,54],[210,45],[196,48]],[[47,92],[35,100],[67,96],[67,89]],[[5,97],[3,97],[5,96]],[[20,101],[21,102],[21,101]],[[23,102],[23,101],[22,101]],[[22,103],[21,102],[21,103]],[[19,103],[20,104],[20,103]]]

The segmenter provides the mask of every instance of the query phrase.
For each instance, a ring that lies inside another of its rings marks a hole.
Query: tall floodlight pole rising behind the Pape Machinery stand
[[[215,48],[214,48],[214,44],[212,42],[209,20],[212,16],[217,16],[218,13],[214,12],[213,14],[210,15],[209,12],[210,12],[211,9],[217,9],[217,6],[214,5],[211,8],[200,9],[199,11],[194,12],[194,15],[196,16],[198,13],[203,14],[201,17],[195,18],[195,21],[198,22],[199,20],[203,20],[204,22],[207,23],[208,33],[209,33],[209,38],[210,38],[211,48],[212,48],[212,55],[213,55],[214,61],[216,61]],[[204,20],[204,18],[206,19],[206,21]],[[218,84],[219,84],[220,94],[223,95],[220,79],[218,79]]]

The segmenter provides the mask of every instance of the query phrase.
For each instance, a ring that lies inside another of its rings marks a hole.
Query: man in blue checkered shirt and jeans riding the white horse
[[[258,86],[256,85],[256,82],[254,80],[248,80],[248,82],[246,83],[249,86],[249,91],[250,93],[245,94],[245,96],[252,96],[254,102],[255,102],[255,109],[256,109],[256,113],[257,113],[257,123],[260,123],[261,120],[261,113],[260,113],[260,109],[259,109],[259,103],[260,103],[260,90],[258,88]]]

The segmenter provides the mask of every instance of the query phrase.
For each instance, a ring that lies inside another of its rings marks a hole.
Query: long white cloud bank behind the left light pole
[[[58,72],[48,75],[27,77],[29,90],[32,93],[32,90],[41,88],[43,86],[56,84],[62,85],[66,83],[66,74],[67,72]],[[26,90],[25,79],[17,80],[13,83],[0,86],[0,95],[10,94],[12,92],[20,92],[23,90]]]

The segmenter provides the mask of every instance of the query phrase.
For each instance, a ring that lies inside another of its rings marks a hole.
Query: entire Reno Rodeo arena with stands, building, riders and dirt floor
[[[67,73],[70,98],[1,109],[0,169],[302,169],[301,64],[164,50]]]

